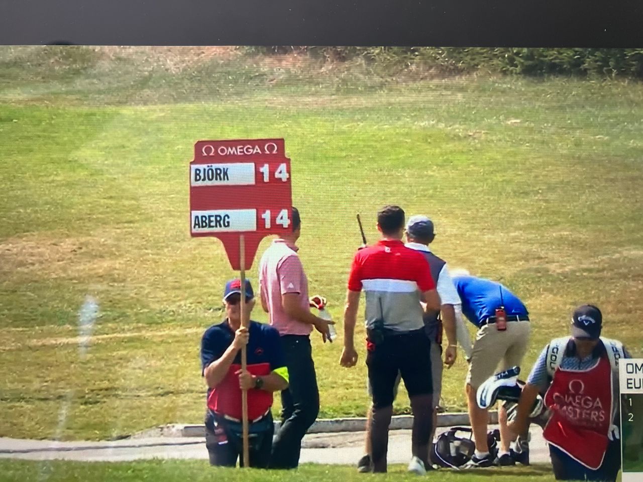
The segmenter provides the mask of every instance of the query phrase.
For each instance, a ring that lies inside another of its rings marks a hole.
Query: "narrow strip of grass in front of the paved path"
[[[159,482],[190,480],[205,482],[212,480],[239,482],[329,482],[334,480],[353,481],[401,481],[417,480],[408,474],[406,467],[394,465],[386,475],[358,474],[354,467],[336,465],[302,465],[296,471],[256,470],[256,469],[214,469],[207,461],[140,461],[78,463],[68,461],[7,461],[0,460],[0,481],[25,481],[46,479],[48,482],[73,481],[143,481]],[[554,477],[550,467],[530,466],[519,468],[468,470],[455,472],[440,470],[439,479],[444,482],[482,482],[489,476],[500,482],[512,482],[516,476],[525,482],[549,482]]]

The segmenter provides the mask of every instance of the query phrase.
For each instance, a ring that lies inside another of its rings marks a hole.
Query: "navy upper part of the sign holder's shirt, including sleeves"
[[[270,371],[285,366],[284,352],[281,346],[279,332],[270,325],[250,321],[248,326],[249,339],[246,345],[246,363],[248,365],[268,363]],[[212,325],[201,339],[201,375],[213,361],[221,358],[228,346],[235,339],[228,321]],[[237,353],[233,364],[241,364],[241,351]],[[208,395],[212,389],[208,389]]]

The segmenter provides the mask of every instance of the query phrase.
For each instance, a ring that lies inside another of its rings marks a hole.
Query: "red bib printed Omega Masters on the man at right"
[[[589,370],[556,368],[545,394],[545,405],[552,411],[545,440],[588,469],[599,469],[609,443],[612,402],[607,357]]]

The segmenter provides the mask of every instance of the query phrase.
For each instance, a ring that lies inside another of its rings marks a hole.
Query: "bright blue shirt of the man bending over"
[[[485,319],[496,316],[496,308],[501,306],[505,307],[507,316],[529,315],[518,296],[496,281],[475,276],[456,276],[453,283],[462,300],[462,314],[478,327]]]

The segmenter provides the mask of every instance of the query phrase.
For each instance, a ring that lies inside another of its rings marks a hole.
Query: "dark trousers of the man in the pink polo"
[[[299,465],[302,438],[320,411],[320,394],[312,361],[309,336],[281,337],[289,385],[282,391],[282,425],[273,442],[270,467],[295,469]]]

